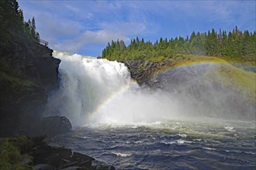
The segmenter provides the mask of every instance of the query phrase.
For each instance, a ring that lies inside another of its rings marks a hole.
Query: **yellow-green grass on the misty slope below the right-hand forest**
[[[182,66],[196,65],[200,63],[213,63],[215,64],[212,69],[206,70],[204,77],[212,82],[219,83],[224,87],[230,87],[249,97],[251,100],[256,100],[256,73],[249,72],[237,68],[230,64],[223,58],[216,56],[195,56],[195,55],[182,55],[172,59],[170,66],[161,68],[160,72],[175,69]],[[240,62],[240,60],[232,60],[233,62]],[[254,62],[248,61],[245,64],[254,66]],[[158,71],[159,72],[159,71]]]

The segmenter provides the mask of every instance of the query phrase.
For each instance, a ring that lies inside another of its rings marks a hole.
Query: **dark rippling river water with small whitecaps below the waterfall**
[[[50,145],[118,169],[256,169],[255,121],[202,122],[88,125]]]

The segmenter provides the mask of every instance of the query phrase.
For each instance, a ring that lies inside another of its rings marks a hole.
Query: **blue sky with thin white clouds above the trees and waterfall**
[[[18,0],[26,20],[50,48],[100,56],[112,39],[126,45],[137,36],[155,42],[160,37],[190,36],[209,29],[255,31],[256,1],[28,1]]]

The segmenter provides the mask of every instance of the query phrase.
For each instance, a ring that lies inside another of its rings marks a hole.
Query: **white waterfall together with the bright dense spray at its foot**
[[[81,126],[148,123],[177,113],[170,96],[140,88],[123,63],[77,54],[55,57],[61,59],[61,87],[49,98],[50,114],[64,115]]]

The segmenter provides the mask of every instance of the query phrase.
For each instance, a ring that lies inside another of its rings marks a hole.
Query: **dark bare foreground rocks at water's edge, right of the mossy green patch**
[[[31,156],[33,156],[35,169],[115,169],[113,166],[96,162],[88,155],[72,152],[71,149],[46,145],[42,137],[32,138],[32,140],[34,149]]]

